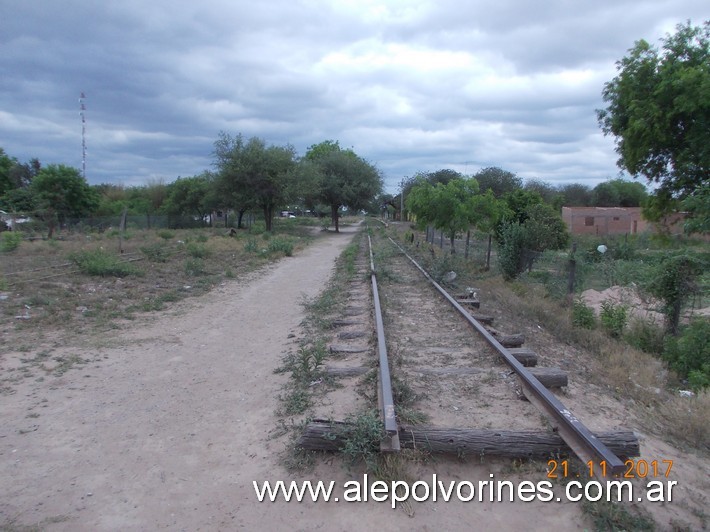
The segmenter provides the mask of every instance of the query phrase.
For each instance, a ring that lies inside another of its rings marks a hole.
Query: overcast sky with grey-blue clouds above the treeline
[[[0,0],[0,147],[143,185],[212,169],[220,131],[337,140],[403,177],[617,177],[604,83],[707,0]]]

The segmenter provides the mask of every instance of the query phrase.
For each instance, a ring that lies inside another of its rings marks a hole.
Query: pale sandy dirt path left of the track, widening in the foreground
[[[259,503],[252,485],[362,473],[339,461],[287,473],[276,411],[301,302],[316,296],[352,232],[324,234],[248,280],[65,355],[91,362],[0,397],[0,528],[26,530],[582,530],[570,503]],[[0,356],[0,367],[21,353]],[[433,459],[415,479],[544,480],[495,462]],[[508,469],[506,469],[506,467]],[[485,474],[484,474],[485,473]],[[534,477],[534,478],[533,478]],[[342,495],[342,488],[336,495]]]

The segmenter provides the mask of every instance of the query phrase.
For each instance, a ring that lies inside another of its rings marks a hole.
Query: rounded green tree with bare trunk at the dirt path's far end
[[[366,209],[382,191],[382,176],[377,168],[354,151],[340,149],[337,142],[311,146],[306,159],[315,165],[315,185],[311,186],[315,197],[311,201],[329,206],[336,232],[340,231],[341,208]]]

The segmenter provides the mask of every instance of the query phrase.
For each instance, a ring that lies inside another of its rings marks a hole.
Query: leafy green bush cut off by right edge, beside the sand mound
[[[679,336],[667,337],[663,359],[692,388],[710,385],[710,321],[693,320]]]

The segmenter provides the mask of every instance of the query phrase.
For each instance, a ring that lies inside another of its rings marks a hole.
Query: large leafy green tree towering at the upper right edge
[[[663,213],[710,180],[710,22],[690,22],[662,39],[661,50],[637,41],[604,85],[597,111],[616,137],[618,165],[659,184]]]

